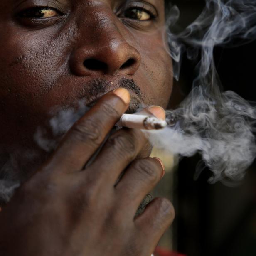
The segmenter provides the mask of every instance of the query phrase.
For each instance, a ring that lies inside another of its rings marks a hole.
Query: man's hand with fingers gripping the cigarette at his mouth
[[[120,129],[107,137],[129,103],[126,89],[104,95],[17,190],[0,213],[1,255],[152,254],[174,210],[167,199],[156,198],[134,218],[164,167],[147,157],[140,130]],[[149,112],[164,113],[158,107]]]

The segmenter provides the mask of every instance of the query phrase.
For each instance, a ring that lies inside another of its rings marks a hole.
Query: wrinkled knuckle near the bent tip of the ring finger
[[[159,167],[150,159],[138,160],[135,168],[143,175],[143,179],[147,179],[149,182],[155,183],[160,177]]]

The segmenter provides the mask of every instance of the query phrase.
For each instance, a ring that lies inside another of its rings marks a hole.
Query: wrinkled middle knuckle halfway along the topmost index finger
[[[102,141],[103,125],[92,119],[86,119],[77,123],[74,128],[74,136],[78,141],[84,141],[93,145],[100,145]]]

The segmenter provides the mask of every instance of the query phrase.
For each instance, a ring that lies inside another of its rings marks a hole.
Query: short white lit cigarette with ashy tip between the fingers
[[[133,129],[159,130],[165,128],[167,123],[154,116],[123,114],[116,125]]]

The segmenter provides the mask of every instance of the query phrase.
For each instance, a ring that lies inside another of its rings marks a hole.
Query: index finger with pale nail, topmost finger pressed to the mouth
[[[65,135],[50,160],[57,170],[81,170],[103,143],[106,135],[127,110],[130,94],[118,88],[100,98],[97,103]]]

